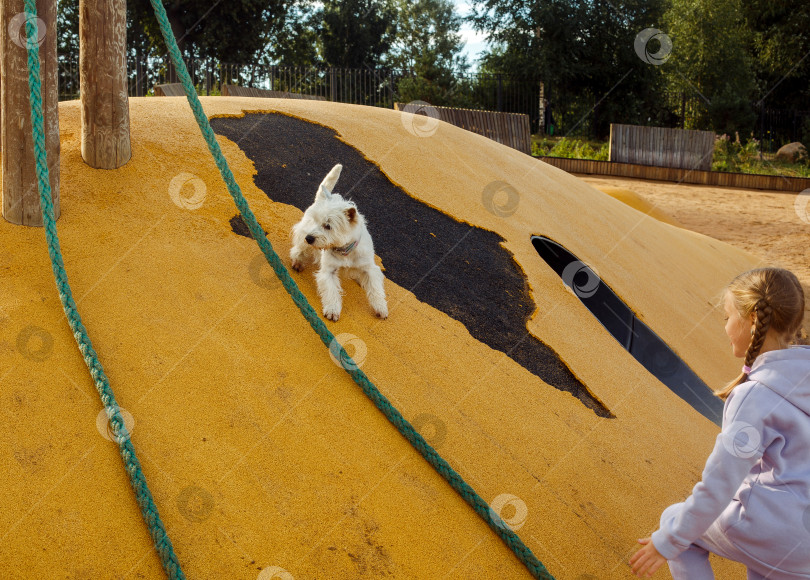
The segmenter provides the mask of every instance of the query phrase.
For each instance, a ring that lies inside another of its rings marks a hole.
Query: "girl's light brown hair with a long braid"
[[[751,366],[762,349],[765,335],[773,329],[780,342],[788,346],[802,342],[804,318],[804,290],[793,272],[782,268],[757,268],[743,272],[726,288],[743,320],[754,314],[751,342],[745,351],[745,366]],[[723,400],[731,391],[748,380],[741,373],[722,389],[714,392]]]

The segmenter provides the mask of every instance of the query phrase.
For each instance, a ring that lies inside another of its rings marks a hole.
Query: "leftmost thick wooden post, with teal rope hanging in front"
[[[54,218],[59,206],[59,95],[56,61],[56,0],[37,0],[45,150]],[[2,109],[3,217],[13,224],[41,226],[23,0],[0,0],[0,109]]]

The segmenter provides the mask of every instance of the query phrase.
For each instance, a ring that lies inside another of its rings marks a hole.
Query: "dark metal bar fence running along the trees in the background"
[[[436,106],[527,114],[533,133],[547,127],[548,111],[541,107],[541,98],[545,97],[546,102],[553,103],[551,114],[555,120],[555,135],[591,139],[604,136],[602,133],[610,123],[634,122],[612,118],[615,103],[611,106],[609,101],[601,98],[593,98],[592,102],[578,98],[561,103],[548,87],[546,94],[542,94],[539,79],[507,74],[458,73],[439,82],[420,79],[410,71],[385,68],[244,65],[203,59],[190,59],[186,66],[200,95],[219,95],[223,84],[237,84],[386,108],[393,108],[395,102],[422,99]],[[168,59],[144,60],[130,56],[127,70],[130,96],[148,96],[153,94],[156,84],[178,82]],[[78,62],[60,56],[59,98],[76,99],[78,96]],[[650,113],[649,123],[636,124],[703,128],[706,107],[697,95],[665,93],[658,95],[656,102],[645,109]],[[789,141],[799,141],[810,133],[810,111],[759,109],[756,112],[755,136],[762,141],[764,151],[777,149]]]

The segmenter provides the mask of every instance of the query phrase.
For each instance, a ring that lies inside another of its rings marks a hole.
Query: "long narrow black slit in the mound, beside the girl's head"
[[[722,423],[723,402],[660,336],[636,318],[596,272],[553,240],[533,236],[532,243],[540,257],[633,358],[698,413],[717,425]]]

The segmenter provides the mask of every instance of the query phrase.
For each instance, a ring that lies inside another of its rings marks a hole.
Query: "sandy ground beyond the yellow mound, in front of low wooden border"
[[[798,276],[808,298],[810,331],[810,195],[578,175],[597,189],[626,189],[683,227],[727,242]],[[810,193],[810,192],[807,192]]]

